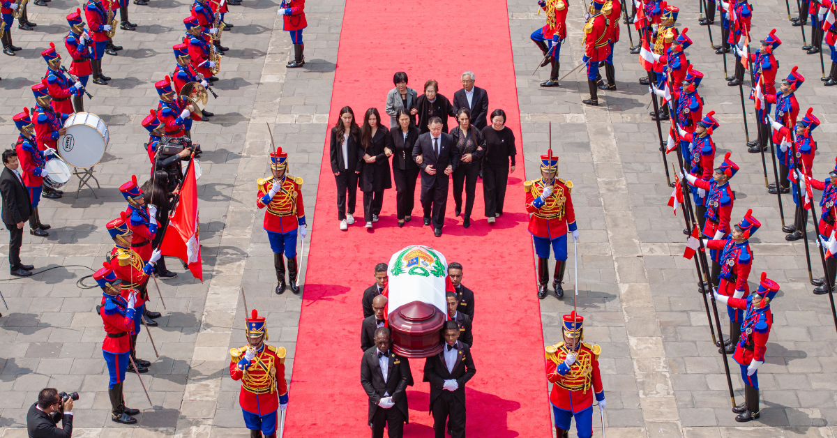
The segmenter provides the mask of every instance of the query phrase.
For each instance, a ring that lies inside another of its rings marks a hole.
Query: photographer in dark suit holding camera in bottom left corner
[[[69,438],[73,435],[73,401],[79,393],[61,393],[58,389],[44,388],[38,394],[38,403],[29,408],[26,427],[29,438]],[[58,422],[61,422],[61,427]]]

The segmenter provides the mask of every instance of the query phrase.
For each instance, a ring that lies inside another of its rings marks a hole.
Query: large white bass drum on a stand
[[[105,156],[110,137],[107,125],[91,112],[76,112],[64,122],[67,133],[58,139],[58,152],[73,167],[93,167]]]

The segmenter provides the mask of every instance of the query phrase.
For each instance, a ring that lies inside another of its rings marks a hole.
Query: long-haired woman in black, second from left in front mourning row
[[[392,188],[389,178],[389,157],[393,155],[393,137],[386,126],[381,126],[381,115],[376,108],[369,108],[363,116],[361,127],[363,171],[360,187],[363,192],[363,220],[367,229],[377,222],[383,206],[383,191]]]

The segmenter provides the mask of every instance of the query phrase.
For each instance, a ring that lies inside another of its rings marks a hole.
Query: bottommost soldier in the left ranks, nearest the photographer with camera
[[[131,332],[134,330],[134,314],[136,310],[136,290],[131,290],[126,300],[120,296],[121,280],[105,262],[99,271],[95,271],[93,279],[102,288],[103,303],[100,316],[105,324],[105,340],[102,341],[102,356],[107,363],[110,375],[107,394],[110,398],[110,420],[123,425],[133,425],[140,410],[126,408],[125,395],[122,385],[125,384],[125,372],[131,362]]]

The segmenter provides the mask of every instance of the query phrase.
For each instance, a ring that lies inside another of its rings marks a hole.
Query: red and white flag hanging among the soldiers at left
[[[170,255],[183,260],[189,265],[192,275],[203,283],[203,266],[201,264],[200,224],[198,222],[198,183],[195,180],[195,167],[189,162],[186,175],[183,176],[183,187],[180,189],[180,200],[169,214],[166,234],[162,238],[160,251],[162,255]]]

